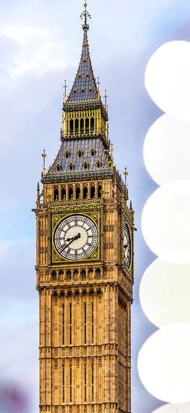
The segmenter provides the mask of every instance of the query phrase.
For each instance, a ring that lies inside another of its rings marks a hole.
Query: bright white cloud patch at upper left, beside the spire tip
[[[36,25],[9,25],[2,28],[0,34],[0,41],[5,41],[6,37],[17,46],[12,54],[12,61],[9,65],[6,63],[6,76],[12,80],[26,74],[40,76],[66,67],[70,63],[68,54],[63,53],[65,42],[54,38],[49,30]],[[4,66],[4,57],[5,54],[1,56],[1,68]],[[5,78],[1,78],[1,83],[4,82]]]

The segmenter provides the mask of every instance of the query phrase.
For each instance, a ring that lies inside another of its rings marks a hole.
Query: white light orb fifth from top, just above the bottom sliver
[[[139,377],[154,397],[167,403],[190,400],[190,324],[169,324],[154,332],[139,351]]]

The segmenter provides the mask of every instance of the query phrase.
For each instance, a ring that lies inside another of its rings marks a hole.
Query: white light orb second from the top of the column
[[[163,115],[147,131],[143,146],[145,167],[159,185],[190,180],[190,123]]]

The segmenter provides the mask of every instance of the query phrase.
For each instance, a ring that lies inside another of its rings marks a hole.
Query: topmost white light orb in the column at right
[[[150,58],[145,70],[148,94],[174,118],[190,120],[190,42],[164,43]]]

